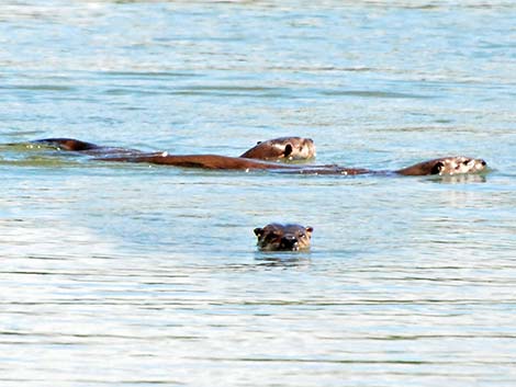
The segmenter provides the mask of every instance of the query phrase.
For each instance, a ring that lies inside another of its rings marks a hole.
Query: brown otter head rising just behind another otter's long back
[[[311,138],[279,137],[258,141],[240,157],[271,161],[307,160],[315,157],[315,145]]]

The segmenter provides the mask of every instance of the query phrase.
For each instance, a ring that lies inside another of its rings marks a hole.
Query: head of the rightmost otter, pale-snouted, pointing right
[[[486,168],[487,163],[482,159],[472,159],[464,156],[445,157],[434,159],[396,171],[404,175],[452,175],[461,173],[478,173]]]

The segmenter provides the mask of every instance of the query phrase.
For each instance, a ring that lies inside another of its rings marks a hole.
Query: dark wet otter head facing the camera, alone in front
[[[299,251],[310,248],[312,227],[280,225],[272,223],[263,228],[255,228],[257,246],[263,251]]]

